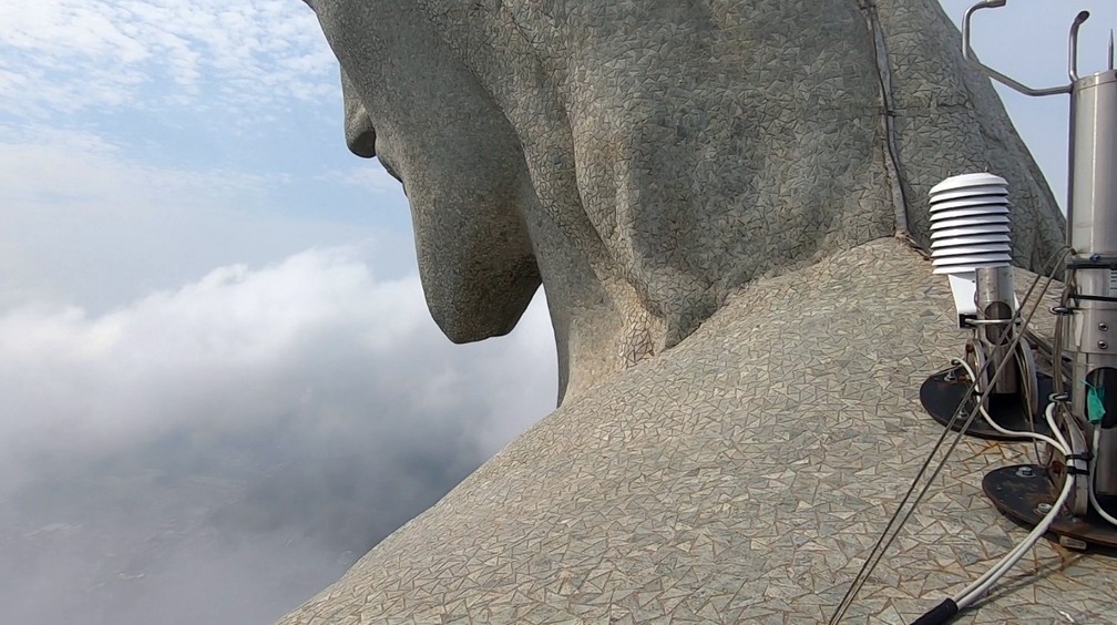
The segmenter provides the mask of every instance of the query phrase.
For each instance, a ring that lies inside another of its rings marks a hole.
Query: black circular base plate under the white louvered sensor
[[[976,404],[976,397],[970,393],[970,377],[966,376],[965,369],[962,367],[941,371],[928,377],[919,387],[919,401],[927,413],[943,425],[951,423],[951,417],[954,416],[958,404],[965,402],[966,405],[963,406],[962,414],[952,426],[957,432]],[[1051,376],[1039,374],[1039,396],[1044,405],[1047,397],[1051,394]],[[990,395],[989,414],[996,421],[997,425],[1005,430],[1051,435],[1051,429],[1048,427],[1042,411],[1035,415],[1025,414],[1024,406],[1018,396]],[[993,430],[981,415],[977,415],[970,424],[966,434],[995,441],[1019,440]]]

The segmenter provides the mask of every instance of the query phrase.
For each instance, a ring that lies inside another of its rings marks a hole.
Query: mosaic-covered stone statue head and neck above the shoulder
[[[953,173],[1013,184],[1020,265],[1061,242],[935,0],[308,3],[350,147],[408,193],[436,321],[504,334],[542,281],[560,396],[758,276],[897,232],[927,243],[926,191]]]

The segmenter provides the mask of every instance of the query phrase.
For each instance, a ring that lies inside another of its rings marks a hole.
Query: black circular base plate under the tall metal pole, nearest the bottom
[[[1027,527],[1035,527],[1044,510],[1058,498],[1056,487],[1048,480],[1047,470],[1038,464],[1003,467],[985,474],[982,480],[985,497],[1002,515]],[[1105,503],[1102,503],[1105,506]],[[1098,517],[1094,510],[1086,518],[1060,515],[1048,530],[1057,536],[1066,536],[1087,545],[1117,549],[1117,527]],[[1105,551],[1101,551],[1105,552]],[[1109,551],[1113,556],[1117,552]]]

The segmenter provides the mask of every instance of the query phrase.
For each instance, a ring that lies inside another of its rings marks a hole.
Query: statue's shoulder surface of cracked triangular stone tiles
[[[895,239],[756,280],[280,623],[825,621],[938,438],[918,388],[961,354],[953,316]],[[1030,449],[964,439],[848,622],[908,623],[1019,541],[980,484]],[[960,622],[1113,623],[1115,585],[1044,540]]]

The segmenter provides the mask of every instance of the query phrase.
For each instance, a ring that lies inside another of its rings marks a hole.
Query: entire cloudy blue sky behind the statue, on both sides
[[[1062,84],[1110,4],[1013,0],[974,46]],[[0,12],[0,623],[269,622],[553,408],[541,297],[481,344],[430,320],[302,2]],[[1066,98],[1001,93],[1061,199]]]

